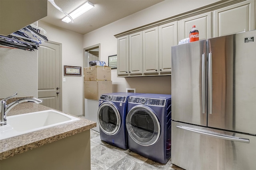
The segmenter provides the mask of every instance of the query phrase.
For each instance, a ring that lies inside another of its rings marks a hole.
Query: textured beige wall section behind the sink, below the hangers
[[[0,47],[0,98],[15,92],[37,98],[37,72],[37,50]]]

